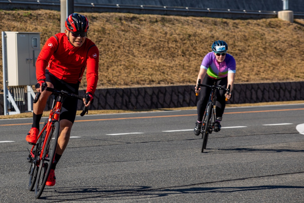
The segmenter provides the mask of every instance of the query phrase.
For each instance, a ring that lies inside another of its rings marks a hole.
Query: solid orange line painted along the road
[[[259,112],[272,112],[272,111],[294,111],[294,110],[304,110],[302,109],[279,109],[279,110],[263,110],[263,111],[243,111],[243,112],[230,112],[224,114],[244,114],[244,113],[259,113]],[[197,114],[187,114],[187,115],[172,115],[172,116],[147,116],[147,117],[130,117],[130,118],[105,118],[105,119],[92,119],[92,120],[82,120],[74,122],[84,122],[84,121],[110,121],[110,120],[124,120],[124,119],[138,119],[138,118],[164,118],[164,117],[177,117],[177,116],[196,116]],[[44,122],[43,122],[44,123]],[[43,124],[40,123],[40,124]],[[5,124],[0,126],[9,126],[9,125],[29,125],[32,123],[20,123],[20,124]]]

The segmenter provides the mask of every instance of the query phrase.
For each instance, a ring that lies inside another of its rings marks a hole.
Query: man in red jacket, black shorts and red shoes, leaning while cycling
[[[43,91],[40,86],[44,83],[48,87],[78,94],[82,75],[87,68],[87,89],[84,97],[89,96],[89,106],[93,99],[98,80],[99,52],[96,45],[87,37],[89,22],[85,16],[78,13],[69,15],[65,22],[65,33],[58,33],[50,37],[44,44],[36,61],[36,90],[41,92],[40,99],[33,104],[33,125],[26,136],[29,144],[36,144],[39,134],[39,123],[47,99],[51,92]],[[85,103],[85,99],[83,100]],[[71,128],[77,111],[78,100],[67,97],[60,113],[60,131],[55,154],[46,185],[55,185],[55,167],[69,142]]]

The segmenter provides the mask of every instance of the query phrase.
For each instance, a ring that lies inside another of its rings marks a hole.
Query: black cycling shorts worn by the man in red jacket
[[[56,76],[51,74],[47,69],[45,71],[46,82],[50,82],[54,85],[54,89],[65,90],[69,93],[78,95],[79,83],[68,83],[58,79]],[[62,103],[62,110],[60,113],[59,120],[67,119],[74,123],[77,111],[78,99],[65,97]]]

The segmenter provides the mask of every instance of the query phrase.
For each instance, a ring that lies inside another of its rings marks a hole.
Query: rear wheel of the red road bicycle
[[[42,128],[44,128],[44,126],[47,124],[47,121],[48,121],[48,119],[46,119]],[[38,173],[37,159],[41,153],[41,148],[42,148],[41,142],[45,138],[45,133],[46,133],[46,130],[44,130],[42,132],[42,135],[38,139],[36,146],[35,146],[34,157],[32,158],[31,167],[29,168],[29,187],[28,187],[29,191],[33,190],[35,183],[36,183],[36,177],[37,177],[37,173]]]

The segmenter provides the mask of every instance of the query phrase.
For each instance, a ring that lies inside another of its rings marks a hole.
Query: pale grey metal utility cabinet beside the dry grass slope
[[[5,32],[8,86],[35,85],[40,33]]]

